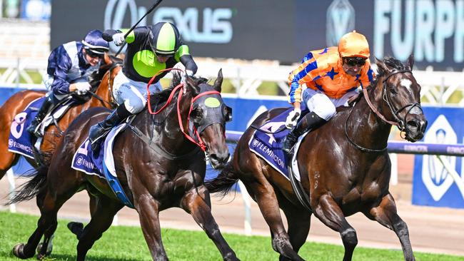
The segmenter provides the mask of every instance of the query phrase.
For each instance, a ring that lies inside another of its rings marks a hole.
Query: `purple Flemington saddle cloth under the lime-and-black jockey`
[[[71,168],[89,175],[98,175],[100,178],[106,179],[116,197],[121,200],[124,205],[133,208],[131,201],[128,200],[118,181],[113,157],[114,139],[126,126],[127,123],[121,123],[115,128],[112,128],[97,152],[92,151],[90,140],[86,138],[84,143],[82,143],[76,153],[74,153]]]

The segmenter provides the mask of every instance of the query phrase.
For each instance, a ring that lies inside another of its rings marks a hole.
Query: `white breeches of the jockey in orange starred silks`
[[[309,111],[313,111],[324,120],[330,120],[336,113],[336,108],[348,106],[348,100],[358,95],[358,89],[346,93],[341,98],[329,98],[326,93],[307,88],[303,91],[303,103]]]

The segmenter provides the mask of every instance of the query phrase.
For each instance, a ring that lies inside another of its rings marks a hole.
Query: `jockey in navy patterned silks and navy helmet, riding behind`
[[[37,127],[59,101],[75,92],[84,95],[90,90],[89,76],[100,67],[104,54],[109,51],[109,44],[99,30],[90,31],[82,41],[71,41],[54,48],[49,56],[45,87],[49,91],[39,108],[29,133],[39,137]]]

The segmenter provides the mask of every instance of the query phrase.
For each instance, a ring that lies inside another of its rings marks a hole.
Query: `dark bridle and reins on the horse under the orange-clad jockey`
[[[385,103],[387,103],[388,108],[390,108],[390,112],[392,113],[393,118],[395,118],[395,121],[389,121],[387,118],[385,118],[385,116],[383,116],[377,110],[377,108],[375,108],[375,106],[373,106],[372,102],[370,102],[370,98],[368,96],[367,88],[363,88],[363,94],[364,94],[365,101],[367,101],[367,103],[368,103],[369,108],[375,113],[376,116],[378,116],[378,118],[380,118],[385,123],[388,123],[388,124],[393,125],[393,126],[397,126],[401,133],[403,133],[403,131],[405,131],[405,133],[408,133],[408,129],[406,128],[406,118],[408,117],[410,111],[412,111],[413,108],[415,108],[416,106],[420,109],[420,111],[423,111],[423,109],[420,106],[420,103],[408,103],[405,106],[399,108],[398,110],[395,110],[395,107],[393,106],[393,103],[391,102],[390,93],[387,91],[388,90],[387,89],[387,81],[388,81],[388,78],[395,75],[396,73],[413,73],[413,72],[410,71],[410,70],[395,70],[395,71],[390,72],[387,76],[385,76],[385,78],[382,81],[382,84],[383,84],[382,99],[383,99],[383,101],[385,101]],[[408,107],[410,107],[408,109],[408,112],[405,114],[404,118],[401,119],[400,116],[398,116],[398,114],[401,111],[403,111],[405,108],[408,108]],[[351,111],[353,111],[353,109],[351,109]],[[347,124],[348,124],[348,119],[350,118],[350,115],[351,115],[351,111],[350,111],[350,114],[348,115],[348,118],[346,118],[346,123],[345,123],[345,135],[346,135],[346,138],[348,138],[348,140],[350,141],[350,143],[353,144],[359,150],[363,150],[365,152],[382,152],[382,151],[386,150],[387,146],[385,146],[385,148],[381,148],[381,149],[364,148],[364,147],[356,144],[349,137],[348,131],[347,131]]]

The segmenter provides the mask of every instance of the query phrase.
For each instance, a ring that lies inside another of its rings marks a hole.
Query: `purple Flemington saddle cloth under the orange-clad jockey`
[[[268,134],[256,130],[255,133],[253,133],[253,136],[251,137],[250,141],[248,142],[248,146],[253,153],[258,155],[258,157],[262,158],[263,160],[266,160],[266,162],[269,165],[271,165],[271,167],[273,167],[287,179],[289,179],[287,167],[288,160],[283,153],[282,143],[283,139],[290,132],[290,130],[285,128],[285,121],[288,116],[288,113],[290,113],[291,111],[293,111],[293,108],[288,108],[287,111],[284,111],[278,116],[271,118],[271,120],[267,121],[263,124],[263,126],[260,127],[261,130],[270,131],[274,134]],[[301,113],[302,115],[300,117],[300,120],[306,115],[306,113],[308,113],[308,110],[303,109]],[[281,130],[282,128],[284,128],[283,131],[275,133],[276,131]],[[296,153],[293,153],[293,158],[291,162],[293,173],[298,181],[301,180],[300,173],[298,171],[298,164],[296,163],[296,155],[298,154],[298,149],[300,147],[301,140],[303,140],[306,134],[308,134],[308,132],[304,133],[300,136],[300,138],[298,138],[298,142],[295,145]]]

